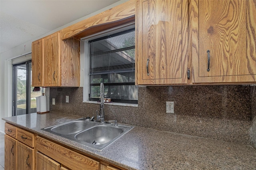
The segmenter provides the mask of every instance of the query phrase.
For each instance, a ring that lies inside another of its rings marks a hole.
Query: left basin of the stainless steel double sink
[[[73,121],[70,123],[66,123],[64,125],[52,127],[51,131],[59,134],[73,134],[73,133],[81,132],[84,129],[93,127],[94,125],[95,123],[87,122],[87,121]]]

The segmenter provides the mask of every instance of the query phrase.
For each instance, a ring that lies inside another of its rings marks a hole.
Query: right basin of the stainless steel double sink
[[[96,126],[76,134],[75,138],[90,144],[105,144],[124,132],[121,128],[106,125]]]

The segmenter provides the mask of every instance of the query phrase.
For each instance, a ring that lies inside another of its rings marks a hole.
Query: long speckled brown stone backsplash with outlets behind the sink
[[[252,95],[252,91],[252,87],[242,85],[139,87],[138,107],[105,105],[105,117],[119,123],[228,142],[251,145],[254,141],[255,145],[256,93]],[[50,111],[95,116],[100,106],[83,103],[82,93],[82,87],[50,88],[50,103],[52,98],[56,103],[50,105]],[[70,103],[65,103],[66,95]],[[174,101],[174,114],[166,113],[166,101]]]

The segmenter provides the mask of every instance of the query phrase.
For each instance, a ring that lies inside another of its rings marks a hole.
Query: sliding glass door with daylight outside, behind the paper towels
[[[13,65],[13,116],[36,112],[36,97],[40,91],[31,87],[31,61]]]

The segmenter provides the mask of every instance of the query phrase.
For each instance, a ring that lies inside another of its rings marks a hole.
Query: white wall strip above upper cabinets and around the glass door
[[[10,59],[17,56],[24,55],[24,45],[26,45],[26,53],[31,52],[31,43],[33,41],[43,38],[45,36],[48,36],[49,34],[52,34],[58,30],[66,28],[72,24],[85,20],[86,18],[99,14],[100,12],[104,12],[126,1],[128,0],[120,0],[110,6],[102,8],[101,10],[93,12],[92,14],[89,14],[87,16],[79,18],[78,20],[70,22],[69,24],[66,24],[60,28],[52,30],[47,34],[44,34],[36,39],[20,44],[17,47],[14,47],[8,51],[5,51],[4,53],[0,53],[0,130],[4,131],[5,121],[3,121],[2,118],[12,116],[12,65],[11,65]]]

